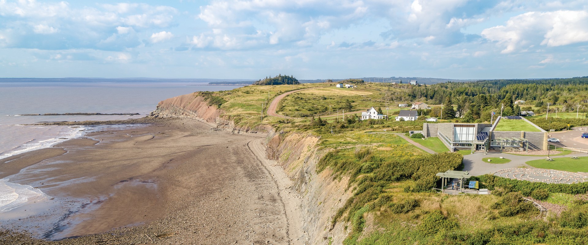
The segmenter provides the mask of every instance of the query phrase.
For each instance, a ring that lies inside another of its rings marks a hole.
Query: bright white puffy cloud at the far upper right
[[[482,36],[505,47],[502,53],[536,44],[554,47],[588,42],[588,12],[527,12],[510,18],[506,25],[484,29]]]

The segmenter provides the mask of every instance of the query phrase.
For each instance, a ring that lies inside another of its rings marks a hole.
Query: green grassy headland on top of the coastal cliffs
[[[328,87],[319,88],[324,86]],[[275,96],[302,88],[317,89],[293,93],[282,100],[278,109],[281,115],[301,118],[264,115],[263,122],[260,120],[262,103],[268,105]],[[320,157],[317,172],[330,170],[333,180],[349,177],[346,187],[353,190],[352,197],[332,218],[333,224],[348,224],[350,233],[344,244],[588,244],[584,236],[588,233],[586,202],[574,202],[560,216],[550,216],[548,222],[536,219],[538,210],[522,199],[538,189],[547,193],[586,193],[588,184],[548,186],[482,176],[472,180],[479,179],[481,186],[493,190],[493,194],[439,194],[432,192],[432,187],[439,187],[435,174],[459,170],[465,154],[446,152],[435,139],[417,139],[439,152],[430,155],[399,136],[368,133],[384,129],[386,132],[420,130],[424,120],[362,121],[356,115],[346,115],[345,119],[324,118],[329,114],[329,105],[331,114],[343,108],[346,112],[371,106],[384,109],[390,98],[413,94],[412,89],[382,83],[366,83],[357,89],[335,88],[335,83],[253,85],[213,92],[210,96],[222,99],[215,101],[222,102],[218,106],[225,111],[223,116],[234,120],[237,126],[264,124],[284,135],[303,133],[319,137],[315,146]],[[389,113],[393,118],[392,112]],[[459,120],[462,119],[452,122]],[[280,157],[290,155],[286,152]]]

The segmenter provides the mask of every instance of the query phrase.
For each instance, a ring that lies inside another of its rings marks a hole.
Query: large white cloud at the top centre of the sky
[[[219,0],[200,9],[198,18],[211,31],[195,35],[191,43],[221,49],[310,46],[323,33],[349,26],[368,12],[361,1],[320,0]]]

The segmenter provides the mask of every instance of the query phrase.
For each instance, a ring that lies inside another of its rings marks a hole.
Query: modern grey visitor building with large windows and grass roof
[[[517,128],[527,130],[513,131],[499,127],[501,120],[507,120],[509,124],[520,124],[523,127]],[[500,152],[522,152],[547,149],[547,131],[520,116],[499,116],[494,124],[425,123],[423,135],[439,137],[441,142],[452,151],[471,149],[472,152],[476,150],[487,152],[489,149],[494,149]]]

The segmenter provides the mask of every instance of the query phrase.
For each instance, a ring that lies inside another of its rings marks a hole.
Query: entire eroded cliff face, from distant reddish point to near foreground
[[[266,153],[269,159],[277,160],[290,179],[295,182],[296,191],[302,196],[303,230],[306,234],[305,244],[342,244],[348,231],[345,223],[339,222],[334,227],[332,217],[351,196],[346,189],[348,179],[333,180],[330,170],[316,173],[316,164],[322,152],[317,147],[319,137],[303,133],[278,133],[270,126],[256,129],[238,128],[229,118],[223,117],[223,111],[198,96],[198,93],[176,96],[159,102],[157,109],[151,113],[154,118],[187,117],[208,123],[211,127],[231,130],[232,132],[268,132]]]

